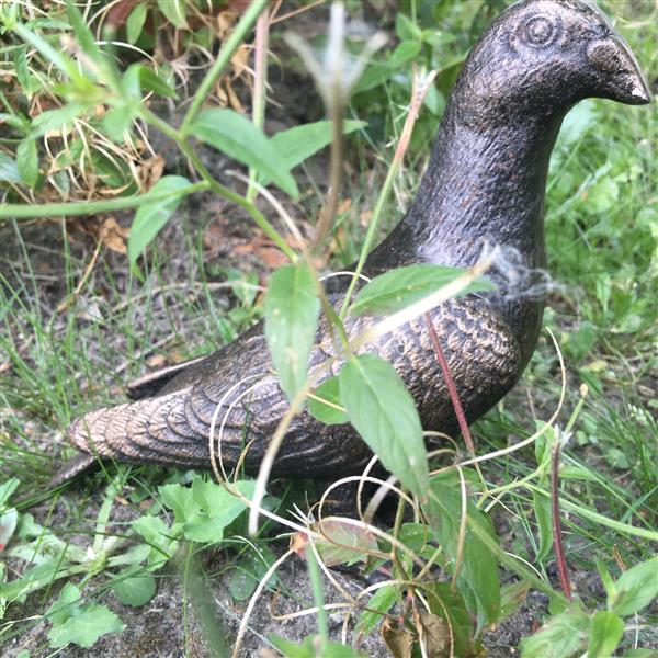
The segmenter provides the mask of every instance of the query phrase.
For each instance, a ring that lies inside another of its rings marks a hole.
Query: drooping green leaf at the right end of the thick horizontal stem
[[[166,175],[150,190],[150,193],[175,192],[190,185],[190,181],[182,175]],[[178,208],[182,196],[172,195],[152,203],[145,203],[137,208],[131,237],[128,238],[128,259],[135,263],[141,252],[154,241],[160,229],[167,224]]]

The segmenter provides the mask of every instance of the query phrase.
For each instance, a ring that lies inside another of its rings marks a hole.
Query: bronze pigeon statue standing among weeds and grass
[[[566,113],[590,97],[631,105],[650,98],[627,44],[594,2],[521,0],[507,9],[468,55],[418,196],[370,254],[365,273],[419,262],[469,266],[485,243],[512,254],[515,272],[545,268],[551,151]],[[430,314],[469,421],[521,376],[544,307],[542,291],[532,285],[510,290],[504,264],[488,276],[497,293],[453,299]],[[330,300],[339,304],[345,287],[334,285]],[[363,329],[364,322],[348,320],[348,331]],[[423,321],[409,322],[367,349],[402,376],[426,429],[456,430]],[[321,322],[311,367],[328,354],[333,347]],[[208,468],[214,415],[215,434],[224,421],[225,467],[235,466],[248,445],[243,466],[256,473],[288,406],[272,372],[259,324],[208,356],[146,377],[133,392],[146,397],[92,411],[71,424],[68,436],[84,454],[60,479],[97,456]],[[359,472],[370,457],[351,426],[325,426],[305,411],[293,420],[273,474],[338,477]]]

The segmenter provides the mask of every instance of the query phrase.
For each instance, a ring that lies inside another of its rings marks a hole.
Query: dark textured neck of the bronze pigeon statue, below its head
[[[466,125],[446,111],[420,191],[402,222],[413,260],[470,265],[481,245],[519,252],[542,268],[544,195],[551,151],[564,115],[513,125]]]

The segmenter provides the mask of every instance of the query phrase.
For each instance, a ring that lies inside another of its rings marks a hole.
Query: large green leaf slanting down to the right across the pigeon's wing
[[[413,398],[393,365],[361,354],[339,375],[350,422],[382,464],[420,499],[428,492],[428,456]]]

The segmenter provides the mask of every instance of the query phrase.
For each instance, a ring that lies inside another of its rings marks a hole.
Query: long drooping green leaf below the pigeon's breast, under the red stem
[[[460,479],[455,473],[436,475],[430,480],[429,489],[430,496],[423,509],[438,543],[451,560],[452,569],[457,557],[462,521]],[[473,593],[484,622],[495,623],[500,615],[498,560],[473,527],[477,525],[495,541],[496,534],[489,517],[478,510],[470,499],[466,501],[466,513],[468,521],[457,586],[467,600]]]

